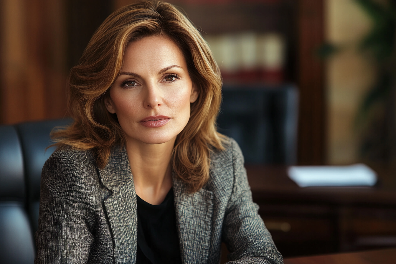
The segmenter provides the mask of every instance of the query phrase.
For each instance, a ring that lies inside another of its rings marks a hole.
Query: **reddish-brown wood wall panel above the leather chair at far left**
[[[2,0],[0,122],[66,112],[64,0]]]

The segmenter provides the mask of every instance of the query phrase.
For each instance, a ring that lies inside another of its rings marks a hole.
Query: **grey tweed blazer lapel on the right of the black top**
[[[213,192],[202,188],[190,194],[173,173],[173,196],[182,262],[204,264],[209,254]]]

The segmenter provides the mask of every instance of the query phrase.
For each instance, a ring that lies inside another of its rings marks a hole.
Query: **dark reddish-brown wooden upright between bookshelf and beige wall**
[[[315,51],[324,43],[324,0],[299,0],[297,84],[300,89],[298,162],[325,162],[324,62]]]

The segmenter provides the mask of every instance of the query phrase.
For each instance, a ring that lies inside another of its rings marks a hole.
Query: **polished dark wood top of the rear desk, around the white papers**
[[[287,176],[286,166],[246,165],[253,196],[257,199],[322,202],[335,205],[396,205],[396,177],[379,175],[373,187],[301,188]]]

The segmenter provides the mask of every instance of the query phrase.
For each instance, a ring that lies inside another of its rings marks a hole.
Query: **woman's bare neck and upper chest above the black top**
[[[162,203],[172,187],[170,160],[174,144],[175,139],[162,144],[127,143],[136,194],[148,203]]]

